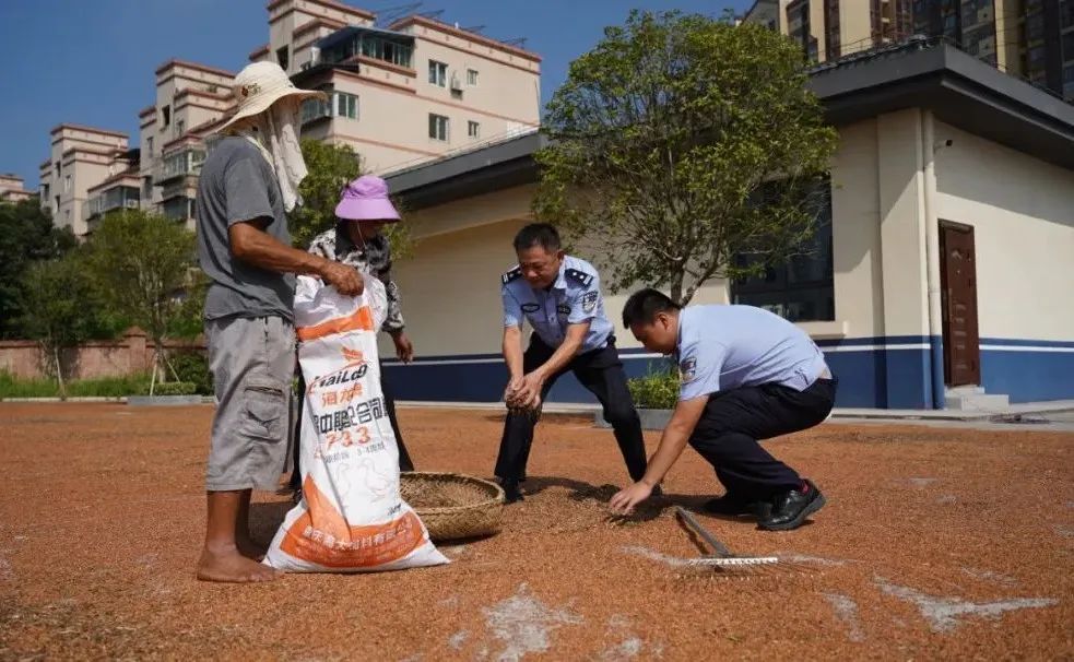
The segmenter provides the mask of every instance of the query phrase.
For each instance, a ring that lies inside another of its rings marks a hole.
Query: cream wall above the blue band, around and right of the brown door
[[[1074,172],[936,122],[940,218],[973,226],[982,338],[1074,340]]]

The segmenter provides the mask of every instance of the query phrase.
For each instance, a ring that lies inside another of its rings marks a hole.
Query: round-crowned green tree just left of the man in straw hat
[[[193,286],[194,235],[180,224],[143,211],[106,215],[86,245],[90,273],[106,303],[153,341],[164,360],[164,341],[185,310]]]

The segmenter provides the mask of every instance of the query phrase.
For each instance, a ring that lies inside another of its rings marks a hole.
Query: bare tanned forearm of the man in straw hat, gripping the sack
[[[261,220],[255,218],[232,223],[227,227],[233,256],[247,264],[269,271],[320,276],[328,284],[334,285],[340,294],[362,294],[364,283],[355,270],[292,248],[261,229]]]

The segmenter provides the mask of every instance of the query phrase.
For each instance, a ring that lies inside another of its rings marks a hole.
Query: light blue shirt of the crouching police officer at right
[[[824,353],[801,329],[754,306],[689,306],[678,314],[680,400],[740,387],[807,389]]]

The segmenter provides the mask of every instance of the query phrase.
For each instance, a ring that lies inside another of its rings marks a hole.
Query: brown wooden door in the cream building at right
[[[977,331],[977,251],[973,227],[940,222],[940,285],[943,292],[944,382],[981,383]]]

